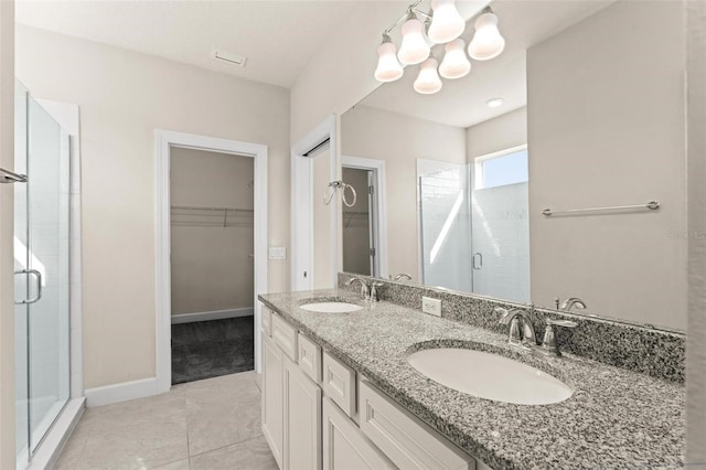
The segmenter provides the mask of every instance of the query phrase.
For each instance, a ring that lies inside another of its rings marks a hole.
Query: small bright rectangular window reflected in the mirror
[[[475,159],[475,188],[504,186],[528,181],[527,146]]]

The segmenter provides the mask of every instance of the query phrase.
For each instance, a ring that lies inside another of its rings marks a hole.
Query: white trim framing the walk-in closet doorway
[[[267,146],[193,133],[154,131],[154,253],[157,310],[157,393],[168,392],[172,385],[171,364],[171,263],[170,263],[170,148],[234,153],[255,159],[255,370],[260,371],[260,317],[258,293],[267,286]]]

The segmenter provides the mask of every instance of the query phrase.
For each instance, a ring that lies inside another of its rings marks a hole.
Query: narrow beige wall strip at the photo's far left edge
[[[0,1],[0,167],[14,168],[14,2]],[[0,184],[0,468],[14,468],[12,184]]]

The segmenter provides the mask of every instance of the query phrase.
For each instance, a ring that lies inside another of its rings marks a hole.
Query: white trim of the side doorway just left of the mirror
[[[335,116],[331,115],[313,128],[291,148],[291,290],[310,290],[314,279],[313,197],[322,197],[325,188],[313,188],[313,160],[306,154],[327,139],[329,142],[329,175],[338,179]],[[331,204],[331,287],[336,285],[339,273],[338,226],[339,199]],[[303,277],[303,273],[307,277]]]

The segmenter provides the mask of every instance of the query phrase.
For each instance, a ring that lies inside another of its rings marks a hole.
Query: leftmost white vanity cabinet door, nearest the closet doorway
[[[279,468],[282,468],[285,431],[284,354],[263,334],[263,434]]]

